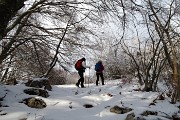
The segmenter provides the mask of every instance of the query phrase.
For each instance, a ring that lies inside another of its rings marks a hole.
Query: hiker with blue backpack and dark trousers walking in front
[[[102,85],[104,85],[103,70],[104,70],[104,66],[102,64],[102,61],[99,60],[95,65],[95,71],[96,71],[96,77],[97,77],[96,86],[98,86],[99,76],[101,77]]]

